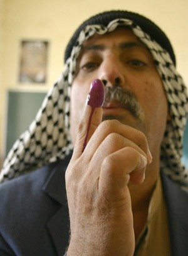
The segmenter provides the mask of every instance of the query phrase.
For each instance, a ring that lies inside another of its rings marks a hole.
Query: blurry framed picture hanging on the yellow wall
[[[45,83],[49,43],[43,40],[21,41],[19,82]]]

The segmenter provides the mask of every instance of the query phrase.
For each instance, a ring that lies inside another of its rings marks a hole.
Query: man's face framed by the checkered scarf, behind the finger
[[[71,89],[71,137],[76,140],[90,84],[101,79],[106,86],[115,86],[134,97],[139,109],[133,115],[130,109],[117,101],[103,108],[103,119],[117,119],[145,133],[150,150],[160,150],[167,120],[167,100],[154,59],[144,43],[125,28],[94,35],[86,41],[78,58],[76,75]]]

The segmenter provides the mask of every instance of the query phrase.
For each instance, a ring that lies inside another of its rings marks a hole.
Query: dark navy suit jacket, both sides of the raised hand
[[[1,256],[63,256],[69,239],[65,190],[69,161],[70,157],[0,186]],[[188,194],[164,174],[162,185],[169,213],[172,255],[187,256]]]

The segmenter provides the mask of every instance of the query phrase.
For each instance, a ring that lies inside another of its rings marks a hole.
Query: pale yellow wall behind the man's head
[[[145,14],[169,35],[177,53],[177,68],[188,84],[187,0],[0,0],[0,154],[6,135],[6,91],[47,91],[63,68],[63,51],[76,26],[88,16],[110,9]],[[19,43],[44,39],[50,42],[48,82],[20,84]]]

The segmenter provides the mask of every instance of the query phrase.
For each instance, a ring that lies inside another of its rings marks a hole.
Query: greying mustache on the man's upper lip
[[[136,118],[140,116],[140,104],[135,94],[128,90],[122,89],[120,86],[105,87],[105,101],[103,106],[115,101],[122,108],[128,109]]]

